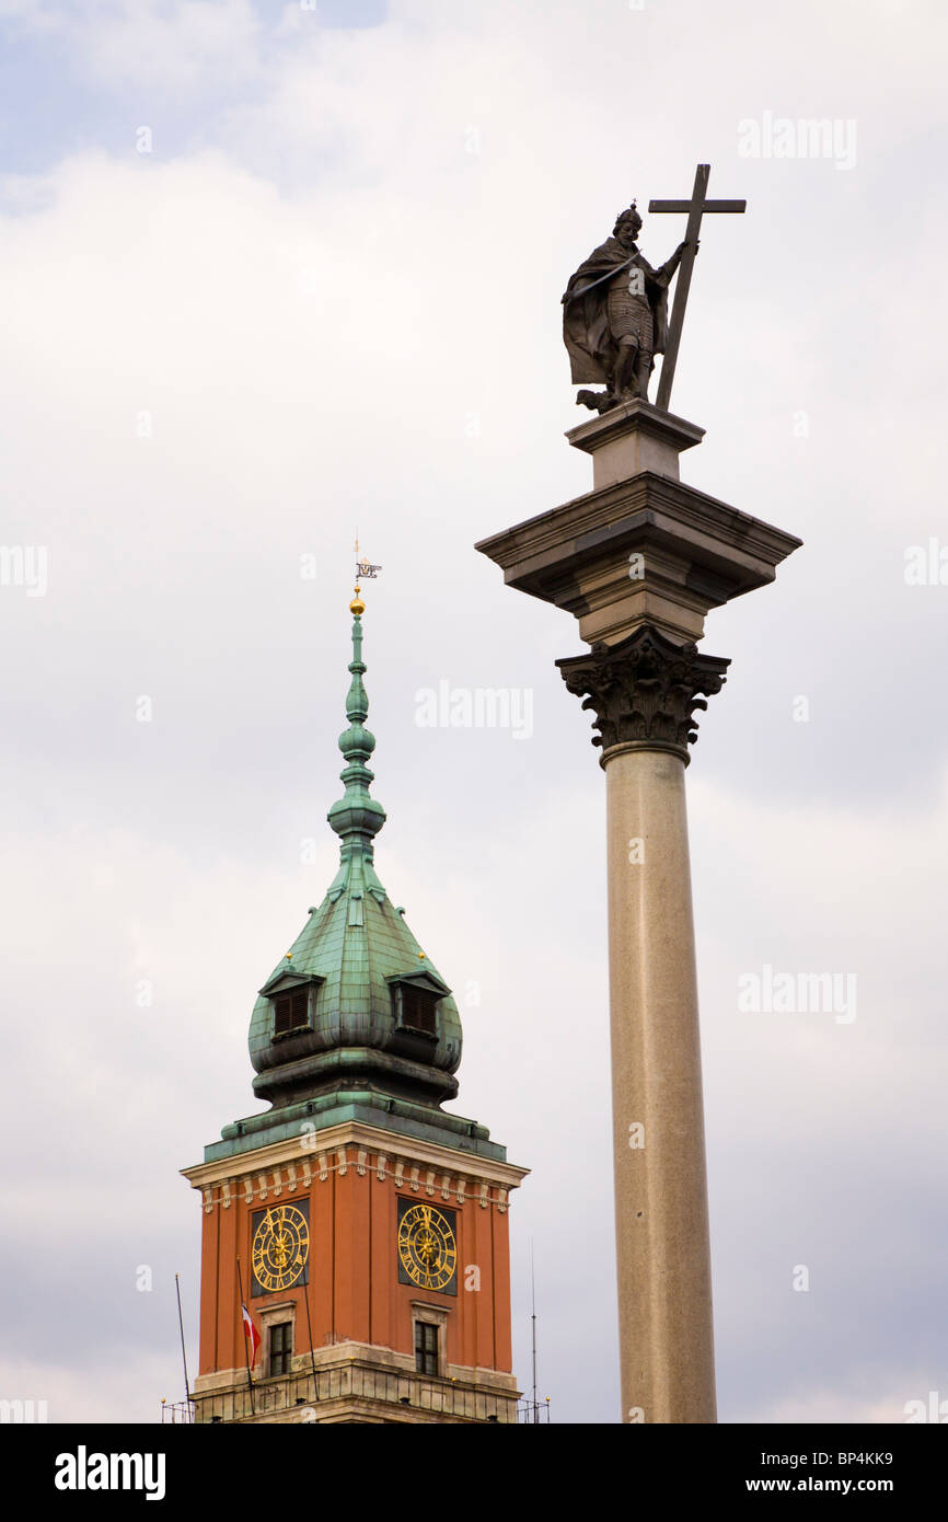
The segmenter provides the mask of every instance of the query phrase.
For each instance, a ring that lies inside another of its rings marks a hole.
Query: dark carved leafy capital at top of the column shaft
[[[615,645],[598,641],[589,654],[557,665],[568,689],[596,714],[592,743],[603,747],[601,766],[616,746],[671,750],[688,764],[688,746],[698,737],[692,711],[708,708],[698,694],[721,691],[730,661],[700,654],[694,644],[676,645],[642,624]]]

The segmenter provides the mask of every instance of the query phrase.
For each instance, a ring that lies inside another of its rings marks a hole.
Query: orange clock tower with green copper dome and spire
[[[458,1093],[450,988],[374,869],[356,587],[329,811],[339,871],[259,991],[262,1114],[184,1169],[198,1192],[198,1422],[516,1422],[510,1199],[525,1169]]]

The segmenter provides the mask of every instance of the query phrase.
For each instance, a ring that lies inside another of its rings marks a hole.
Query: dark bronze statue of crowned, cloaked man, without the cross
[[[635,201],[619,212],[612,237],[584,259],[563,297],[563,342],[574,382],[600,380],[606,391],[580,391],[577,402],[606,412],[631,397],[648,397],[654,356],[668,338],[668,285],[685,244],[653,269],[636,239],[642,218]]]

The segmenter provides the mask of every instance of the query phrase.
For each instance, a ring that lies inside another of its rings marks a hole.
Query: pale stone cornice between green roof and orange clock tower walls
[[[192,1189],[201,1190],[204,1210],[210,1213],[215,1207],[228,1210],[237,1198],[251,1204],[292,1196],[313,1183],[326,1183],[332,1173],[345,1177],[348,1170],[374,1172],[380,1183],[391,1180],[396,1187],[457,1204],[476,1199],[484,1208],[495,1205],[501,1213],[510,1205],[510,1192],[530,1172],[513,1163],[345,1122],[215,1163],[198,1163],[181,1173]]]

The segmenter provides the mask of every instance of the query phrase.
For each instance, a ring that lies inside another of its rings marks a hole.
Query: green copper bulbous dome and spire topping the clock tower
[[[339,737],[345,791],[327,814],[341,840],[339,871],[254,1005],[254,1094],[272,1108],[225,1126],[208,1160],[347,1116],[420,1137],[449,1134],[452,1146],[504,1155],[484,1126],[440,1108],[458,1091],[461,1020],[374,869],[385,810],[370,794],[376,740],[365,728],[364,604],[356,600],[352,610],[348,728]]]

